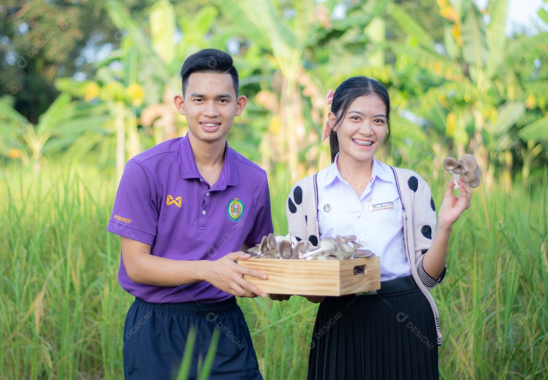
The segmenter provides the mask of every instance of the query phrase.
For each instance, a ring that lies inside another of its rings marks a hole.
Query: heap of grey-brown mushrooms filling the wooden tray
[[[355,235],[326,238],[318,241],[318,246],[308,240],[296,241],[289,235],[274,236],[269,234],[262,238],[261,243],[250,247],[247,252],[252,257],[282,258],[302,260],[347,260],[349,258],[373,257],[375,254],[366,249],[359,249]]]

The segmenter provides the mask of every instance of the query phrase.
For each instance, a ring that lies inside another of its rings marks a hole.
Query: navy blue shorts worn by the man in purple
[[[262,380],[249,329],[236,298],[216,303],[150,303],[135,298],[124,324],[126,379],[176,378],[187,335],[196,329],[189,379],[198,375],[213,331],[219,344],[209,379]]]

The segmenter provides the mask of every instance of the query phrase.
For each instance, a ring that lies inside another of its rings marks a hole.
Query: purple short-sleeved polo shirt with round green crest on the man
[[[264,170],[225,146],[219,180],[200,175],[188,135],[159,143],[130,159],[107,231],[152,246],[174,260],[217,260],[273,232]],[[206,281],[182,286],[136,284],[121,258],[118,281],[148,302],[218,302],[233,297]]]

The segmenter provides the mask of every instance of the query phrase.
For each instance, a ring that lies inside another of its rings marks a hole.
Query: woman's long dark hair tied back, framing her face
[[[350,104],[360,96],[367,96],[375,94],[386,105],[386,125],[388,132],[381,144],[381,147],[388,141],[390,137],[390,98],[388,91],[382,84],[374,79],[368,77],[352,77],[346,79],[343,83],[339,84],[339,87],[335,90],[333,95],[333,104],[331,105],[331,111],[335,114],[335,125],[331,126],[329,133],[329,146],[331,148],[331,162],[335,161],[335,156],[339,153],[339,139],[336,134],[336,126],[343,120]]]

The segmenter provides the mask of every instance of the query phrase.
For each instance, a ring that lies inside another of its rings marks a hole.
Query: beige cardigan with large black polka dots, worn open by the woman
[[[403,210],[403,236],[406,243],[407,261],[411,274],[419,289],[424,293],[436,320],[438,346],[441,345],[439,315],[430,290],[441,283],[446,269],[438,280],[426,273],[423,257],[432,244],[436,231],[436,209],[430,187],[414,171],[392,168],[398,186]],[[318,188],[316,175],[308,176],[295,183],[286,203],[289,234],[297,240],[310,240],[317,244],[318,231]]]

